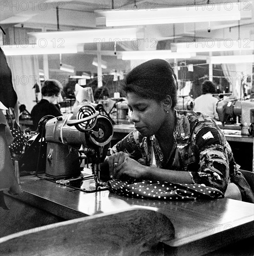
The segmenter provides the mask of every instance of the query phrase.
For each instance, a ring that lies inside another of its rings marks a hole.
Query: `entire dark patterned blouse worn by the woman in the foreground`
[[[123,151],[135,160],[143,158],[146,166],[155,164],[157,168],[188,171],[194,183],[223,193],[239,167],[215,121],[192,111],[176,110],[174,145],[168,158],[163,156],[155,136],[143,137],[137,130],[119,141],[112,151]]]

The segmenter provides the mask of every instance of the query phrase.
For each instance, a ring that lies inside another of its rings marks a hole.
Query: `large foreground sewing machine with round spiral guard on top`
[[[45,129],[47,177],[77,177],[80,160],[85,158],[91,162],[96,188],[100,186],[100,163],[113,136],[113,126],[107,117],[99,115],[91,104],[81,103],[73,114],[42,119],[39,129]]]

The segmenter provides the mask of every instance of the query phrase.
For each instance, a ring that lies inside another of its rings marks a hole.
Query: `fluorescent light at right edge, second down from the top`
[[[189,52],[218,52],[218,51],[240,51],[240,50],[254,50],[254,41],[250,40],[236,40],[231,39],[206,39],[203,38],[201,41],[190,39],[185,43],[172,43],[171,50],[176,47],[177,53],[189,53]]]

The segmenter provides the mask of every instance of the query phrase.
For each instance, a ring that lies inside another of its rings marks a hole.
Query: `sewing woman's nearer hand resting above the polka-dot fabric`
[[[126,180],[131,177],[135,179],[145,179],[145,166],[128,157],[121,165],[114,170],[114,179]]]

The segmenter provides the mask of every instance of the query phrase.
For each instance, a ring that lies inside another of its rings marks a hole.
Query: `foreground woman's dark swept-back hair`
[[[121,92],[133,92],[145,99],[163,101],[169,95],[172,109],[177,103],[177,81],[167,61],[154,59],[134,67],[120,84]]]

